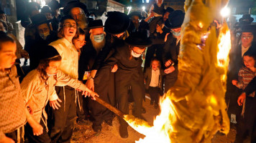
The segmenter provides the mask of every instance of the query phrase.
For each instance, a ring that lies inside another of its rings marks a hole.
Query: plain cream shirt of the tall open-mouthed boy
[[[49,45],[55,47],[62,58],[59,69],[64,74],[78,79],[78,51],[76,47],[65,38],[52,41]],[[59,82],[56,85],[60,87],[65,86],[65,84]]]

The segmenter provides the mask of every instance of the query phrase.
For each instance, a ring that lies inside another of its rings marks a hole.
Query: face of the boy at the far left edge
[[[8,69],[14,65],[17,56],[16,52],[16,44],[12,43],[12,41],[6,41],[0,44],[0,69]]]

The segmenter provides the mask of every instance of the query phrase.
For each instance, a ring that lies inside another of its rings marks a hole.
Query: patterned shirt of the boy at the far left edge
[[[26,123],[25,102],[15,66],[0,71],[0,139]]]

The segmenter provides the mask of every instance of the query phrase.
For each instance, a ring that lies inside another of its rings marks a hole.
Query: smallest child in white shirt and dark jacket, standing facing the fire
[[[155,109],[158,107],[159,94],[160,91],[162,91],[164,74],[165,72],[161,69],[160,61],[153,58],[150,68],[146,69],[144,78],[146,82],[146,89],[150,94],[150,104],[152,105],[155,102]]]

